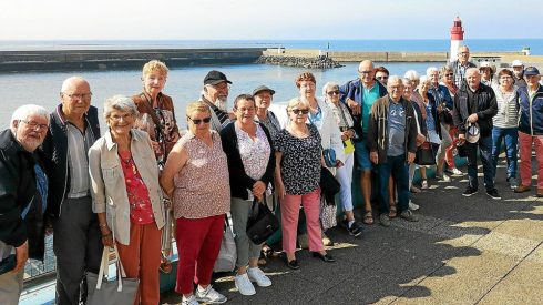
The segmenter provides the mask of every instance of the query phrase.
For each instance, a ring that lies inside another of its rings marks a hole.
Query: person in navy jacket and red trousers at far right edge
[[[521,185],[515,193],[530,191],[532,186],[532,144],[537,160],[537,197],[543,197],[543,87],[540,71],[529,67],[524,71],[526,87],[519,90],[520,119],[519,146],[521,151]]]

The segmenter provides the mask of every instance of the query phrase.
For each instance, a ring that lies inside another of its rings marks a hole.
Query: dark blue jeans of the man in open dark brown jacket
[[[396,189],[398,192],[398,212],[408,210],[409,207],[409,173],[406,163],[406,155],[387,156],[387,163],[377,165],[377,174],[379,179],[379,213],[389,212],[389,195],[388,181],[390,175],[395,179]]]

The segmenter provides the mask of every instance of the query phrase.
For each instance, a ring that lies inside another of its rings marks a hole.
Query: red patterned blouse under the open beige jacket
[[[130,220],[136,224],[154,222],[148,190],[132,159],[130,151],[119,151],[130,203]]]

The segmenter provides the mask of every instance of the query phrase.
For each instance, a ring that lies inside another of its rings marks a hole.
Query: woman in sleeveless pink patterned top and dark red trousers
[[[182,304],[224,303],[212,285],[213,266],[221,250],[224,214],[230,207],[228,164],[221,136],[209,129],[212,114],[204,102],[186,108],[188,132],[174,145],[161,175],[172,199],[180,261],[175,291]],[[197,275],[196,295],[193,293]]]

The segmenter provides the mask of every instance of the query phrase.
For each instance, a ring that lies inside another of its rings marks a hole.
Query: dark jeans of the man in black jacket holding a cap
[[[481,136],[477,143],[465,143],[468,145],[468,177],[472,189],[479,187],[477,179],[477,149],[481,154],[483,163],[484,187],[486,191],[494,189],[495,167],[492,159],[492,136]]]

